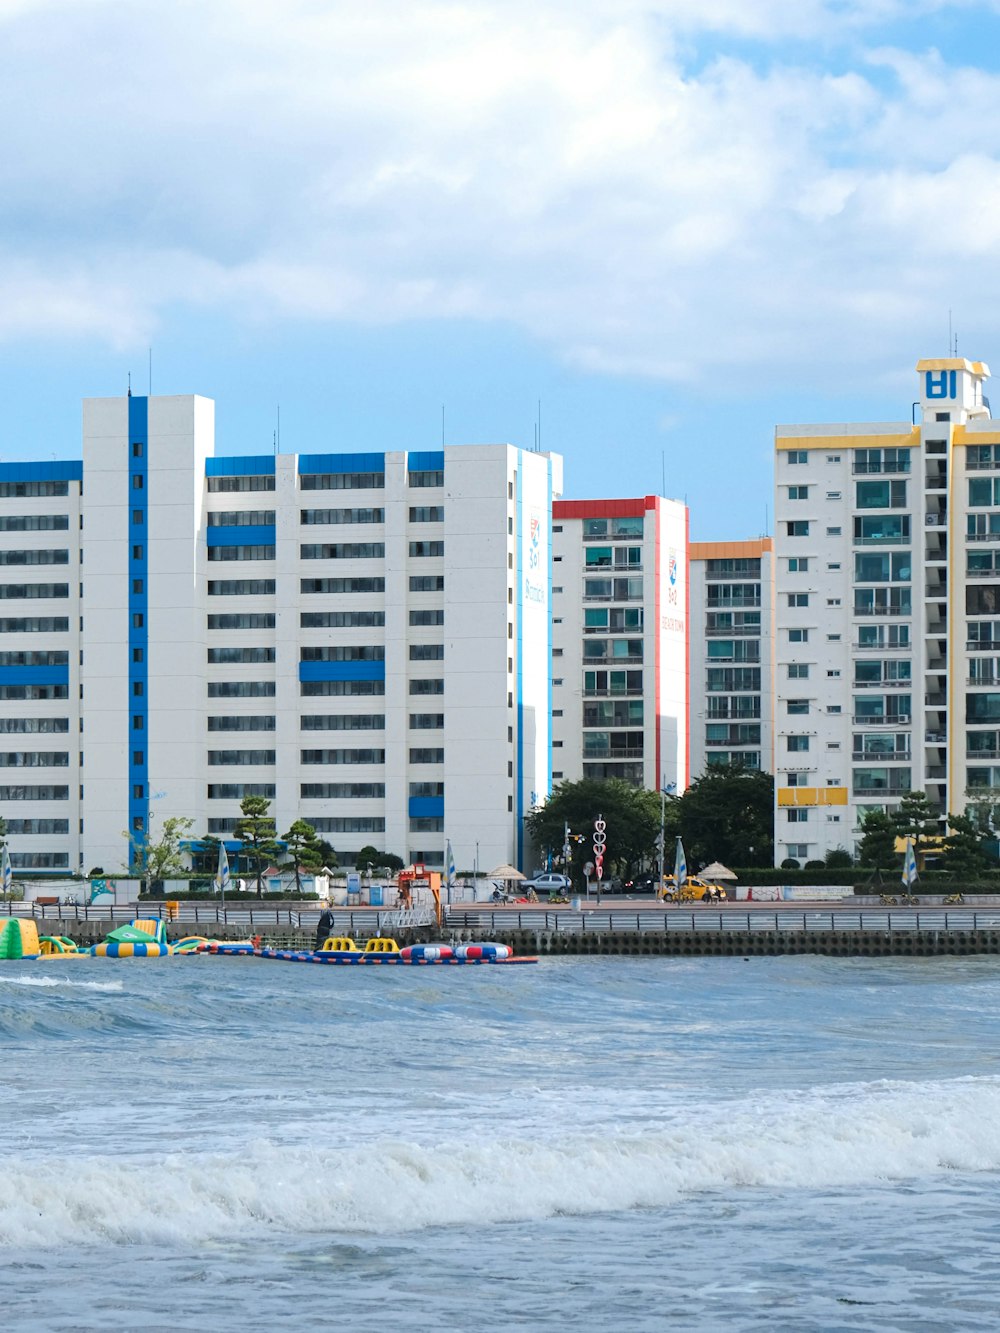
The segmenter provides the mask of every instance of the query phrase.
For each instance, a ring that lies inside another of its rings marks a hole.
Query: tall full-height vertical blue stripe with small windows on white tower
[[[128,400],[128,829],[149,828],[149,400]],[[209,460],[211,461],[211,460]],[[139,517],[140,521],[135,521]],[[139,693],[136,693],[139,686]],[[136,762],[136,754],[140,756]],[[140,793],[140,794],[136,794]]]

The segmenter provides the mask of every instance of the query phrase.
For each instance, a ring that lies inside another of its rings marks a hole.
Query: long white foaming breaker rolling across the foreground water
[[[1000,1080],[877,1082],[680,1110],[633,1133],[480,1134],[351,1149],[11,1158],[0,1245],[395,1233],[669,1206],[693,1193],[1000,1169]]]

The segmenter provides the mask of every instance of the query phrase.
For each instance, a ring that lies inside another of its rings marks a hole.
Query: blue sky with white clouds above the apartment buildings
[[[1000,373],[1000,0],[0,0],[0,124],[8,461],[131,375],[736,540],[776,424]]]

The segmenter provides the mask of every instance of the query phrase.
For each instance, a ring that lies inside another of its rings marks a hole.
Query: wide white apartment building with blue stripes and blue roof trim
[[[15,869],[111,873],[123,829],[167,816],[229,840],[244,794],[343,864],[441,866],[445,838],[461,866],[520,861],[551,784],[561,460],[216,457],[213,421],[197,396],[88,400],[81,461],[0,465]]]

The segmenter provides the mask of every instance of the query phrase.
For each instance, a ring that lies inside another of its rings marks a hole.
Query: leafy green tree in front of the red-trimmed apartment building
[[[673,801],[668,801],[672,812]],[[628,877],[643,864],[656,858],[660,834],[660,794],[632,786],[620,778],[599,781],[584,777],[577,782],[559,782],[544,805],[524,818],[524,826],[540,850],[551,849],[561,858],[565,825],[569,825],[571,869],[573,878],[583,877],[583,865],[593,860],[593,821],[604,817],[607,850],[604,873],[612,870]],[[673,828],[673,814],[671,813]]]

